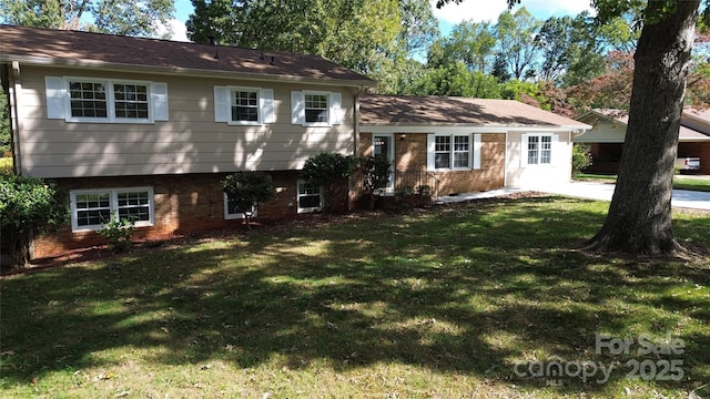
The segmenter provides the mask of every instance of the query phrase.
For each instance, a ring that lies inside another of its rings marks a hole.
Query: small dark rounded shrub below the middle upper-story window
[[[264,172],[236,172],[226,176],[221,183],[222,190],[227,195],[227,206],[244,215],[247,228],[252,228],[248,224],[253,215],[252,209],[275,195],[274,181]]]

